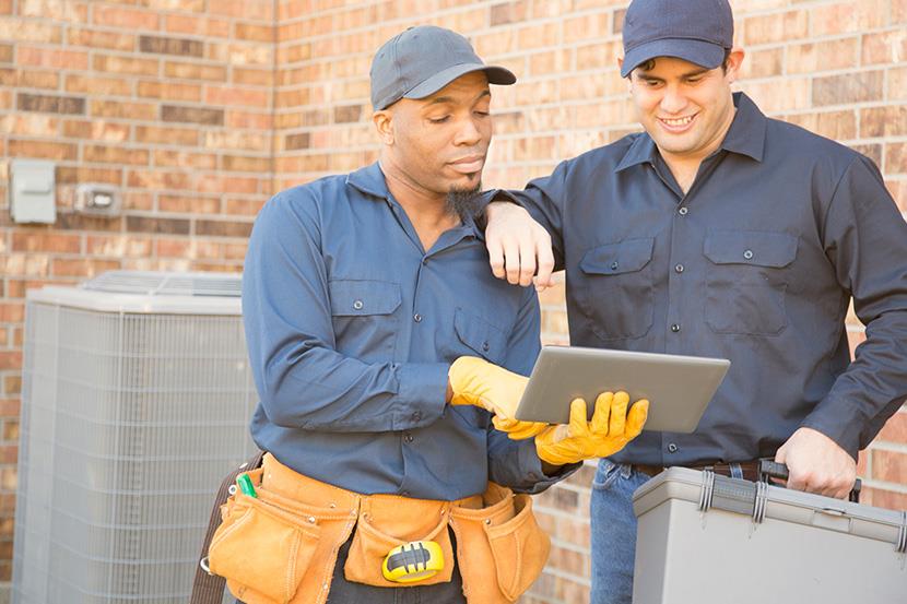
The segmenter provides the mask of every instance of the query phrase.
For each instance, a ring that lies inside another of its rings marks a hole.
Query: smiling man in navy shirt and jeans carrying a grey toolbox
[[[533,248],[541,285],[566,269],[573,344],[732,362],[696,433],[648,431],[601,461],[594,604],[631,601],[631,497],[662,466],[752,479],[774,457],[789,488],[845,497],[907,395],[907,225],[870,159],[732,94],[732,38],[727,0],[634,0],[621,74],[645,132],[515,192],[544,229],[488,208],[498,276],[528,285]],[[851,297],[867,325],[852,363]]]

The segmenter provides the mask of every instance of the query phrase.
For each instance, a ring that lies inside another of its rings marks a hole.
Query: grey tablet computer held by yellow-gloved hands
[[[600,392],[623,390],[631,403],[649,400],[644,429],[688,434],[696,429],[730,365],[726,358],[545,346],[516,417],[568,424],[570,401],[581,396],[591,418]]]

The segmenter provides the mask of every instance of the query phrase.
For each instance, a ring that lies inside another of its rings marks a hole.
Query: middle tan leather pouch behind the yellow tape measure
[[[376,588],[405,588],[446,583],[454,575],[454,548],[448,532],[450,504],[392,495],[363,498],[356,532],[343,573],[348,581]],[[413,583],[394,583],[381,573],[388,552],[411,541],[434,541],[444,553],[444,569]]]

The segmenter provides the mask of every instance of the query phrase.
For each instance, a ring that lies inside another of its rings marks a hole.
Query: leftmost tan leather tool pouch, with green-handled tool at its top
[[[260,482],[260,470],[249,474],[252,484]],[[257,499],[237,493],[223,506],[209,564],[246,604],[287,604],[308,569],[320,528],[259,490]]]

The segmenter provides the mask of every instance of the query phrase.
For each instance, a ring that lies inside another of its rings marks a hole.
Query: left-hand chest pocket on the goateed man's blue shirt
[[[337,351],[367,363],[393,359],[400,284],[334,280],[328,283]]]

